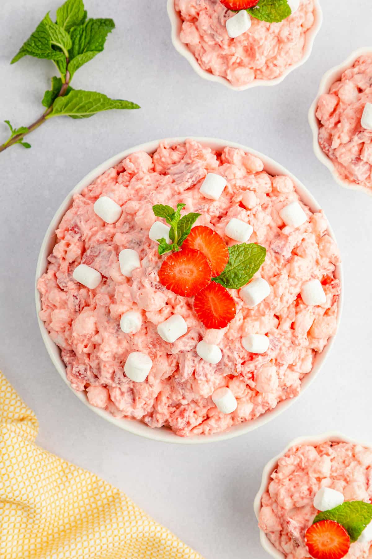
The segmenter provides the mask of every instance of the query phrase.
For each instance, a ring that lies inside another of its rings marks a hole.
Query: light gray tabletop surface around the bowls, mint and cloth
[[[61,0],[3,0],[0,120],[27,125],[54,75],[49,61],[9,60]],[[123,489],[206,559],[264,559],[252,503],[262,468],[294,437],[338,429],[370,439],[372,198],[337,186],[313,155],[307,110],[328,68],[371,41],[371,0],[323,0],[310,60],[279,86],[245,92],[201,79],[173,48],[166,0],[86,0],[89,16],[113,17],[103,54],[75,88],[135,101],[140,111],[52,119],[32,149],[0,154],[0,367],[40,421],[38,443]],[[334,350],[315,383],[274,423],[240,438],[173,446],[115,428],[74,397],[38,331],[36,259],[57,206],[86,173],[145,141],[205,135],[252,146],[311,190],[335,229],[345,264],[345,310]],[[7,138],[0,125],[0,140]]]

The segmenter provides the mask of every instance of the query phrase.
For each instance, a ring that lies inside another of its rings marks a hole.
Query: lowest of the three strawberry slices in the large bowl
[[[195,312],[206,328],[220,330],[233,320],[236,305],[228,290],[212,281],[197,293],[194,299]]]

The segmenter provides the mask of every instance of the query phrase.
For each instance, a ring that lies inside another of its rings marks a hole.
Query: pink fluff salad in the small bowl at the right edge
[[[360,56],[320,97],[316,116],[319,144],[337,174],[372,192],[372,130],[360,122],[366,103],[372,103],[372,53]]]

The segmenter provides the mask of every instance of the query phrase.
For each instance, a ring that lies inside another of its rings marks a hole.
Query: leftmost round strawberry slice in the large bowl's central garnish
[[[200,250],[182,249],[164,260],[159,270],[159,280],[177,295],[194,297],[211,281],[211,268]]]

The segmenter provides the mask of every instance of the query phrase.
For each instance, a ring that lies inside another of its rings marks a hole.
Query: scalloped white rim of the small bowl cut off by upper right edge
[[[361,49],[357,49],[354,50],[353,53],[351,53],[351,55],[346,58],[346,60],[344,60],[344,62],[342,62],[342,64],[339,64],[338,66],[335,66],[334,68],[331,68],[330,70],[328,70],[328,72],[326,72],[320,82],[320,86],[319,86],[319,91],[318,94],[315,98],[315,100],[313,101],[309,112],[308,112],[308,121],[313,133],[313,149],[314,149],[314,153],[316,155],[316,157],[320,160],[321,163],[325,164],[326,167],[328,167],[328,169],[330,170],[332,176],[334,177],[335,181],[337,182],[337,184],[340,184],[340,186],[343,186],[345,188],[351,188],[352,190],[360,190],[363,192],[366,192],[369,195],[372,195],[372,189],[371,188],[366,188],[364,186],[360,186],[359,184],[355,184],[352,181],[348,181],[347,179],[343,179],[340,177],[339,173],[337,173],[334,162],[332,162],[332,159],[330,159],[328,157],[328,155],[322,150],[319,141],[318,141],[318,134],[319,134],[319,120],[317,119],[316,116],[316,110],[317,110],[317,106],[318,106],[318,102],[319,99],[321,97],[321,95],[323,95],[323,93],[328,93],[330,91],[330,87],[332,86],[332,84],[334,84],[335,82],[337,82],[337,80],[339,80],[341,78],[341,75],[345,72],[345,70],[347,70],[348,68],[351,68],[351,66],[354,64],[355,60],[357,58],[359,58],[359,56],[366,54],[366,53],[372,53],[372,46],[371,47],[363,47]]]

